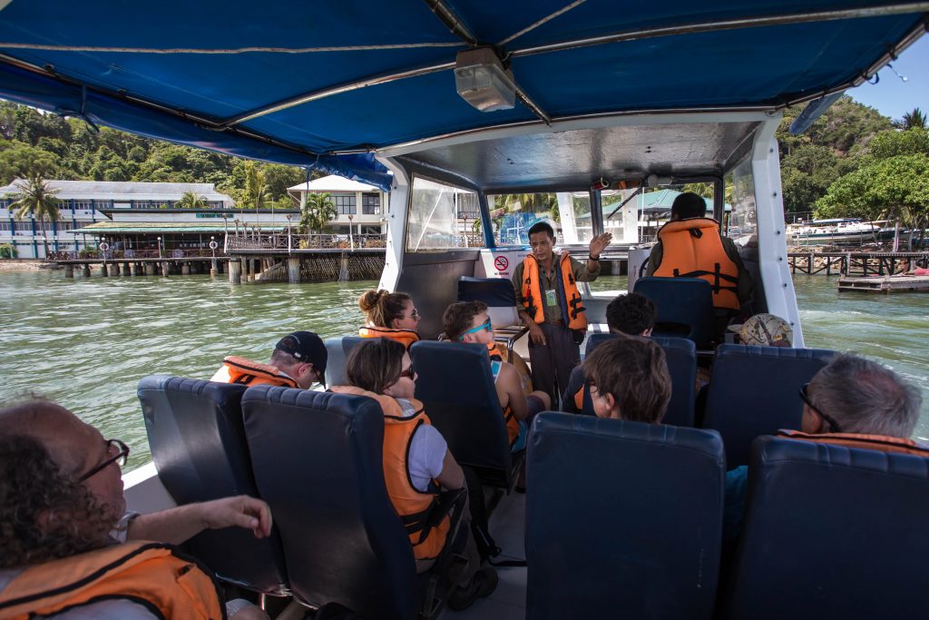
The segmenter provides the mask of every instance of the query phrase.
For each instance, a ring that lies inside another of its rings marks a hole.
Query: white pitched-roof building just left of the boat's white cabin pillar
[[[288,188],[287,192],[300,202],[307,204],[307,195],[328,193],[332,197],[338,216],[331,228],[337,233],[347,234],[354,227],[355,234],[383,234],[387,231],[387,193],[373,185],[330,175]]]

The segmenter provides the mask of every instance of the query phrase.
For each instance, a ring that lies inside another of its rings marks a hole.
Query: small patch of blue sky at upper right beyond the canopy
[[[906,82],[884,67],[878,72],[881,81],[876,85],[866,82],[849,89],[847,94],[860,103],[876,108],[884,116],[895,119],[903,116],[904,112],[911,112],[913,108],[929,113],[929,34],[923,34],[891,64],[897,73],[907,78]]]

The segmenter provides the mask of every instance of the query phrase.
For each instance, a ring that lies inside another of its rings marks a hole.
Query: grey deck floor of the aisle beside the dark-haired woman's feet
[[[503,549],[495,561],[525,560],[526,495],[504,495],[489,520],[491,534]],[[521,620],[526,617],[526,567],[498,567],[500,582],[486,599],[478,599],[463,612],[443,611],[443,620]]]

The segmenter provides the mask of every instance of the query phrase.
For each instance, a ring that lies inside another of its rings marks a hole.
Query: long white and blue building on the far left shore
[[[21,191],[21,183],[21,180],[16,180],[0,188],[0,245],[13,245],[20,258],[45,257],[44,236],[51,252],[77,251],[87,246],[96,248],[98,237],[105,232],[95,225],[119,219],[114,214],[131,214],[127,219],[137,221],[171,222],[178,221],[177,218],[203,218],[208,211],[221,214],[235,204],[231,197],[216,191],[212,183],[48,180],[46,184],[50,190],[56,191],[55,197],[60,201],[60,214],[59,220],[45,222],[44,235],[40,222],[33,218],[18,219],[15,209],[9,208],[15,200],[12,196]],[[183,215],[177,215],[177,210],[171,207],[189,191],[200,196],[207,208],[197,210],[198,213],[184,209]],[[83,231],[87,227],[91,228]],[[221,226],[216,229],[221,230]]]

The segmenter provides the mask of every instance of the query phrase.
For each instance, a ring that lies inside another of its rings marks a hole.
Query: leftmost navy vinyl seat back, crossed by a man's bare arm
[[[165,375],[139,381],[151,458],[178,505],[259,496],[242,428],[244,391],[242,385]],[[206,530],[185,547],[224,580],[267,594],[288,591],[277,528],[262,539],[238,527]]]

